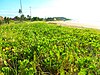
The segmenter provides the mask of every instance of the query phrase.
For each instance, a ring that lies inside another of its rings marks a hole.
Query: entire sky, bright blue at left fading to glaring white
[[[22,0],[23,14],[32,16],[64,16],[78,20],[100,21],[100,0]],[[19,15],[20,0],[0,0],[0,15]]]

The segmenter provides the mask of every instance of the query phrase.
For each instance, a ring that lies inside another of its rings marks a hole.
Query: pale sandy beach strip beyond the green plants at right
[[[61,26],[72,26],[72,27],[78,27],[78,28],[100,29],[100,25],[77,23],[77,22],[72,22],[72,21],[49,21],[47,23],[58,24],[58,25],[61,25]]]

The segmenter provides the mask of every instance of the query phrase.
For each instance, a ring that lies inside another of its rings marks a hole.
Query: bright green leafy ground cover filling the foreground
[[[44,22],[2,25],[0,75],[100,75],[100,31]]]

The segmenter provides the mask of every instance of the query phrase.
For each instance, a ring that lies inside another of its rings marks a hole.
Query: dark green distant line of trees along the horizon
[[[66,21],[66,20],[71,20],[65,17],[47,17],[47,18],[40,18],[40,17],[31,17],[29,15],[24,16],[23,14],[19,16],[15,16],[13,18],[9,17],[2,17],[0,16],[0,25],[1,24],[9,24],[10,21],[18,21],[18,22],[23,22],[23,21]]]

